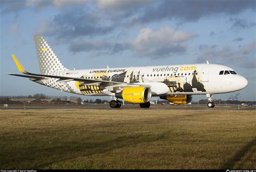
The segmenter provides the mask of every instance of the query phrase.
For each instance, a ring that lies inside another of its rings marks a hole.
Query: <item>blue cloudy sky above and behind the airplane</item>
[[[33,37],[43,35],[68,69],[223,64],[248,85],[213,98],[255,101],[255,9],[251,0],[0,0],[0,95],[73,96],[6,75],[18,73],[12,53],[39,73]]]

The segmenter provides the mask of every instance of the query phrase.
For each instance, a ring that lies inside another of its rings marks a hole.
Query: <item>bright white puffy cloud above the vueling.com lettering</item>
[[[170,27],[161,27],[158,31],[142,28],[137,38],[130,41],[138,56],[165,58],[183,54],[187,49],[187,41],[196,37],[185,31],[174,31]]]

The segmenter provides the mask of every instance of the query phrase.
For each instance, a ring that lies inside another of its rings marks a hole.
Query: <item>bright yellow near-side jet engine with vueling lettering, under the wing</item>
[[[125,87],[116,94],[116,97],[130,103],[146,103],[151,99],[151,89],[144,86]]]

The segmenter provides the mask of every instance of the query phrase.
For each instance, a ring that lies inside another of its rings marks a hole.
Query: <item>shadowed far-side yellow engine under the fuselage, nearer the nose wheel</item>
[[[165,99],[174,104],[187,104],[192,102],[192,95],[167,95],[160,96],[161,99]]]

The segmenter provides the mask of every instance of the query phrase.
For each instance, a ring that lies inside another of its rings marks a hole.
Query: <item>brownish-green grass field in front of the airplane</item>
[[[0,110],[0,169],[255,169],[256,111]]]

